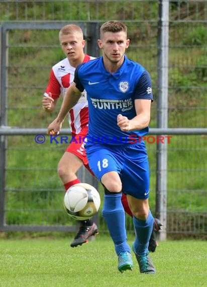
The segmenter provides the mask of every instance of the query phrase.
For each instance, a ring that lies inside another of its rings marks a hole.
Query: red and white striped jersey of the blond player
[[[85,55],[83,62],[95,59]],[[73,83],[75,68],[70,65],[68,58],[63,59],[52,67],[50,79],[45,96],[50,92],[53,99],[59,98],[60,94],[64,97],[67,88]],[[72,134],[77,134],[88,125],[88,102],[86,91],[84,90],[77,104],[69,111],[69,125]]]

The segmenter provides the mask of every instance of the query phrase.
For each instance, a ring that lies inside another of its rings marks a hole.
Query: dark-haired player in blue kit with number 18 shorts
[[[89,107],[87,142],[89,166],[105,189],[104,216],[118,256],[120,272],[133,268],[127,242],[122,191],[133,213],[135,253],[141,273],[156,273],[148,245],[153,228],[149,198],[149,163],[143,140],[148,133],[151,79],[139,63],[127,58],[127,27],[109,21],[100,28],[102,56],[80,64],[57,118],[48,133],[58,134],[65,116],[85,89]]]

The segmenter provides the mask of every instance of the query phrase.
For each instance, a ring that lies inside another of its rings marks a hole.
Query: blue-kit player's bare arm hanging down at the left
[[[64,96],[64,100],[62,102],[59,114],[56,119],[48,126],[47,134],[59,134],[65,116],[67,115],[69,110],[77,104],[79,98],[81,97],[81,94],[82,93],[75,87],[75,83],[73,83],[68,88]]]

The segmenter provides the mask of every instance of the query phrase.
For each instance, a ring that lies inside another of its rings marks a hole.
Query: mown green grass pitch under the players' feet
[[[129,244],[132,245],[132,235]],[[107,235],[71,248],[71,238],[0,239],[0,286],[135,287],[206,286],[207,242],[160,242],[151,258],[157,274],[121,274]]]

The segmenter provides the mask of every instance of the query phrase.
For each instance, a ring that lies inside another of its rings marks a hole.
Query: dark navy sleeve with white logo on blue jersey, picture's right
[[[134,93],[135,100],[148,99],[153,101],[151,78],[148,71],[144,71],[140,77]]]

